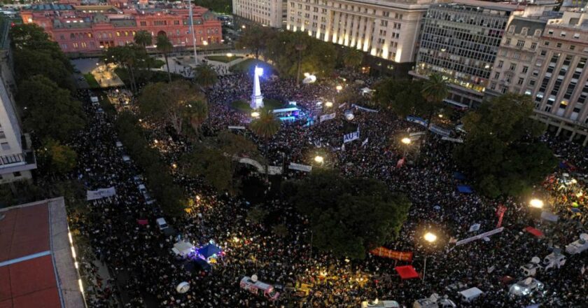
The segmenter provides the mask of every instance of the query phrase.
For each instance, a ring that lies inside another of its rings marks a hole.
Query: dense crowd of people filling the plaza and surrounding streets
[[[342,72],[346,78],[345,91],[359,91],[370,86],[374,78]],[[361,79],[362,83],[354,83]],[[230,107],[237,99],[248,100],[251,95],[251,76],[221,76],[207,92],[209,118],[204,134],[216,134],[228,125],[247,125],[248,115]],[[72,228],[90,239],[94,258],[104,261],[116,281],[104,294],[102,289],[89,300],[91,307],[109,307],[111,297],[118,296],[125,307],[360,307],[364,300],[396,300],[407,307],[432,293],[447,295],[460,307],[526,307],[542,304],[543,307],[583,307],[588,292],[584,276],[586,253],[568,255],[566,265],[549,272],[540,272],[537,279],[545,283],[545,292],[516,297],[508,293],[503,283],[511,276],[514,283],[526,278],[519,270],[534,256],[545,257],[554,248],[565,249],[566,244],[586,232],[587,207],[583,195],[586,183],[576,181],[561,188],[561,183],[572,177],[569,167],[576,172],[588,168],[588,155],[584,148],[545,136],[544,140],[554,152],[566,160],[568,169],[559,169],[543,186],[535,190],[549,200],[557,223],[542,221],[538,212],[530,209],[527,200],[490,200],[477,193],[463,194],[456,185],[468,183],[456,179],[459,171],[451,160],[454,144],[431,134],[426,141],[405,148],[398,142],[407,132],[423,130],[386,111],[366,112],[351,109],[345,102],[332,107],[316,107],[321,99],[335,97],[333,83],[297,86],[293,80],[268,78],[262,80],[265,97],[281,102],[297,102],[311,118],[323,113],[336,112],[332,120],[307,125],[307,118],[283,123],[267,147],[253,134],[260,151],[270,165],[281,166],[295,162],[312,165],[314,155],[325,155],[325,164],[352,177],[372,177],[384,181],[391,190],[405,193],[412,201],[409,218],[403,225],[400,237],[387,247],[396,251],[412,251],[412,265],[426,277],[401,280],[395,274],[395,260],[367,254],[365,260],[334,258],[329,253],[316,251],[310,246],[308,220],[288,204],[279,192],[261,188],[265,197],[260,206],[267,210],[265,221],[246,219],[248,210],[257,204],[237,195],[217,192],[200,178],[186,176],[181,170],[173,172],[179,183],[193,200],[193,207],[181,218],[168,219],[183,239],[197,246],[214,240],[223,248],[224,256],[210,272],[190,266],[179,260],[171,248],[176,239],[158,230],[155,219],[163,216],[156,204],[148,205],[137,189],[136,176],[141,169],[134,162],[123,161],[124,149],[116,146],[113,118],[97,112],[90,104],[89,92],[80,92],[90,124],[73,146],[78,153],[77,178],[88,189],[115,187],[116,195],[89,202],[90,213],[70,217]],[[131,102],[127,91],[111,91],[109,97],[118,102]],[[339,108],[341,107],[341,108]],[[353,112],[353,120],[343,113]],[[344,144],[342,136],[359,130],[360,139]],[[191,151],[190,142],[169,135],[165,127],[149,127],[148,137],[158,139],[162,160],[170,165],[185,151]],[[418,148],[416,148],[418,147]],[[405,151],[408,161],[396,162]],[[418,157],[418,160],[416,159]],[[564,174],[567,173],[567,174]],[[304,176],[302,172],[284,170],[284,178]],[[260,175],[260,178],[264,176]],[[582,204],[578,211],[570,211],[571,203]],[[505,230],[488,239],[455,246],[454,239],[464,239],[496,228],[496,209],[506,207],[503,220]],[[147,225],[139,221],[147,220]],[[375,221],[374,223],[377,223]],[[478,232],[470,226],[480,224]],[[285,225],[286,234],[277,234],[272,227]],[[538,239],[523,232],[533,226],[545,232]],[[439,239],[435,244],[422,240],[426,230],[433,230]],[[405,264],[405,262],[399,262]],[[243,276],[256,274],[260,281],[281,286],[278,300],[254,295],[239,287]],[[187,293],[178,293],[176,286],[182,281],[190,283]],[[311,285],[307,294],[294,292],[301,283]],[[461,286],[458,290],[451,286]],[[477,287],[484,291],[473,304],[458,300],[459,290]]]

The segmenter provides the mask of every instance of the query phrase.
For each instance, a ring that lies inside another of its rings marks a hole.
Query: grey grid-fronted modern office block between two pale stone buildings
[[[472,106],[484,99],[498,46],[517,6],[485,1],[431,5],[423,19],[411,75],[440,73],[449,80],[447,102]]]

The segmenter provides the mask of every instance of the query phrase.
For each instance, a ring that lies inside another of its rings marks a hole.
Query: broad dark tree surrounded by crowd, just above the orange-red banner
[[[411,203],[374,179],[346,179],[318,170],[288,181],[283,193],[309,216],[313,245],[339,257],[365,258],[365,252],[395,239]]]

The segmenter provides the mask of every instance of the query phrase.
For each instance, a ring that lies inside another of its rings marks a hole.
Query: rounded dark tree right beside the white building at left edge
[[[82,104],[45,76],[23,80],[17,101],[23,110],[25,127],[38,139],[67,141],[85,126]]]

